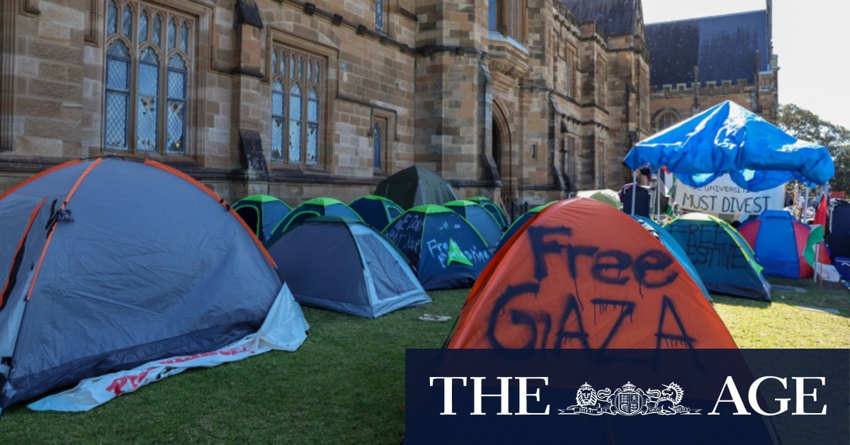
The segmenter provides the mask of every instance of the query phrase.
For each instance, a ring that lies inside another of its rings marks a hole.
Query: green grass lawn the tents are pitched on
[[[715,296],[740,347],[850,347],[850,291],[777,280],[773,304]],[[398,443],[405,431],[405,348],[439,348],[467,290],[377,320],[304,308],[311,334],[298,351],[190,370],[88,413],[37,413],[19,405],[0,419],[0,443]],[[812,306],[836,310],[802,309]],[[422,313],[451,322],[421,322]]]

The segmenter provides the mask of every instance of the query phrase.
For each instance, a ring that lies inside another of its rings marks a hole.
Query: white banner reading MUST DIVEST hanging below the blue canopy
[[[764,191],[748,191],[724,174],[698,188],[677,181],[674,199],[683,208],[704,214],[761,214],[785,206],[785,184]]]

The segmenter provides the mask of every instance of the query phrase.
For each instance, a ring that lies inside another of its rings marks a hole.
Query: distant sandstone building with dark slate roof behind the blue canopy
[[[724,100],[776,123],[779,67],[771,0],[766,4],[763,10],[646,26],[653,132]]]

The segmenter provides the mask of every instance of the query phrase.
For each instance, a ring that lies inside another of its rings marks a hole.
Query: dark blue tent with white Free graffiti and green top
[[[411,261],[428,290],[468,288],[490,261],[490,250],[478,231],[443,206],[411,208],[383,233]]]

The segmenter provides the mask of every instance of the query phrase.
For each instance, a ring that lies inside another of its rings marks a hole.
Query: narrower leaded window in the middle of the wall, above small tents
[[[271,50],[271,160],[320,163],[326,60],[294,48]],[[288,66],[287,66],[288,64]],[[288,68],[288,69],[287,69]]]

